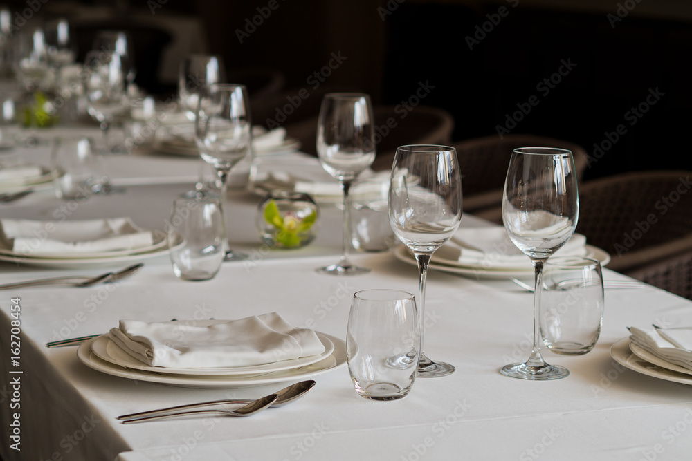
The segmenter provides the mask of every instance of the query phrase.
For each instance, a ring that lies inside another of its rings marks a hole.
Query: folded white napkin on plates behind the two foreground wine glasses
[[[585,256],[586,237],[574,234],[556,256]],[[437,256],[438,261],[435,261]],[[531,270],[531,260],[514,245],[504,226],[460,227],[447,243],[432,255],[433,262],[454,261],[460,266],[486,270]]]

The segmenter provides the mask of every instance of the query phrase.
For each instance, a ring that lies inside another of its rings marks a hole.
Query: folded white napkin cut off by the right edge
[[[692,327],[653,328],[630,327],[630,341],[671,364],[692,370]]]

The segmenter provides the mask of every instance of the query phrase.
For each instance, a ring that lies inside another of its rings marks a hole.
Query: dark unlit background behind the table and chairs
[[[132,10],[151,10],[153,1],[98,4],[117,7],[116,15],[127,19]],[[421,104],[455,117],[454,141],[496,135],[517,105],[526,109],[535,96],[538,104],[518,114],[522,120],[511,133],[570,140],[598,154],[586,179],[692,170],[686,142],[692,7],[684,0],[273,1],[275,9],[242,44],[237,31],[259,14],[257,8],[268,11],[270,0],[167,0],[152,14],[199,17],[209,52],[224,57],[230,69],[276,68],[289,88],[312,91],[311,75],[332,53],[347,59],[325,84],[366,91],[376,104],[399,104],[428,82],[434,88]],[[48,0],[48,15],[51,2],[61,3]],[[26,8],[25,2],[15,5]],[[477,28],[485,28],[485,36],[474,35]],[[478,39],[472,49],[469,37]],[[558,77],[562,62],[576,65]],[[539,91],[552,75],[560,82],[547,94],[546,86]],[[174,89],[171,82],[158,83],[159,95]],[[648,104],[656,88],[663,95]],[[642,103],[647,112],[641,118],[628,114]]]

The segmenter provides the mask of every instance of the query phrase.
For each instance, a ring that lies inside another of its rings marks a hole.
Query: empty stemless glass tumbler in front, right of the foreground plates
[[[346,357],[358,395],[371,400],[406,397],[416,377],[420,348],[412,294],[399,290],[354,294]]]

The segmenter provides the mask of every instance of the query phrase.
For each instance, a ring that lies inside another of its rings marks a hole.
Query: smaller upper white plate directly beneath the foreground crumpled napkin
[[[300,357],[299,359],[282,360],[272,364],[262,364],[255,366],[234,366],[226,368],[164,368],[161,366],[149,366],[141,361],[138,361],[127,352],[122,350],[118,344],[109,339],[109,335],[101,335],[94,339],[91,345],[91,352],[97,355],[100,359],[110,362],[113,365],[119,365],[125,368],[134,370],[145,370],[149,373],[165,373],[167,375],[204,375],[204,376],[232,376],[232,375],[260,375],[264,373],[272,373],[281,370],[290,370],[291,368],[299,368],[314,364],[320,360],[324,360],[331,352],[334,352],[334,343],[329,341],[321,333],[317,333],[317,337],[325,346],[325,352],[310,357]]]

